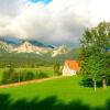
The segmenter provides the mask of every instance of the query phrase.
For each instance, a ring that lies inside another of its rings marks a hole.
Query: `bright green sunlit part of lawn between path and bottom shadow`
[[[7,89],[1,88],[0,94],[10,95],[13,101],[22,98],[32,100],[35,97],[38,97],[38,100],[43,100],[55,96],[58,100],[63,100],[66,103],[81,100],[90,107],[102,107],[110,99],[110,87],[107,90],[98,88],[97,91],[94,91],[90,87],[80,86],[80,80],[81,77],[78,76],[63,77],[38,84],[29,84]]]

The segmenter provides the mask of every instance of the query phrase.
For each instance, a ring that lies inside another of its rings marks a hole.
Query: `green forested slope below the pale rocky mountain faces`
[[[77,59],[78,52],[72,50],[69,53],[51,57],[51,53],[36,55],[34,53],[8,53],[0,50],[0,67],[13,65],[13,67],[52,66],[55,62],[64,64],[65,59]]]

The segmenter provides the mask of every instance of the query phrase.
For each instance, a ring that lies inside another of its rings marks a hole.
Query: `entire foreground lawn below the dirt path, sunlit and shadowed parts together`
[[[110,110],[110,87],[94,91],[80,81],[75,76],[0,88],[0,110]]]

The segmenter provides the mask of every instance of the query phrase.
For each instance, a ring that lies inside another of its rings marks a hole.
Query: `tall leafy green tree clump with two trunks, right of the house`
[[[110,73],[110,23],[100,22],[98,26],[87,29],[81,38],[81,70],[92,78],[96,90],[96,81],[102,78],[102,86],[106,88],[106,78]],[[108,59],[109,58],[109,59]]]

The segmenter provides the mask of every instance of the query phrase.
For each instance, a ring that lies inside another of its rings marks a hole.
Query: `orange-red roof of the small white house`
[[[66,61],[65,65],[67,65],[73,70],[79,70],[80,69],[78,61]]]

